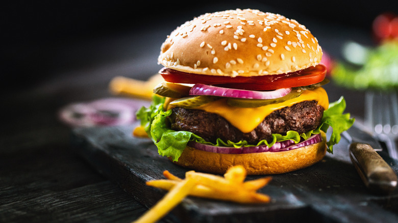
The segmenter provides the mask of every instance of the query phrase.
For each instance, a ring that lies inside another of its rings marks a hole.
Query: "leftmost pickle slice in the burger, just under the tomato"
[[[182,98],[189,95],[189,90],[191,86],[162,82],[155,87],[154,93],[169,98]]]

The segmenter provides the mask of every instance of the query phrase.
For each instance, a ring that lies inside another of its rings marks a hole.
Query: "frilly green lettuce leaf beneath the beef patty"
[[[312,134],[318,134],[321,130],[326,132],[329,127],[333,128],[333,132],[327,142],[327,151],[333,153],[333,145],[340,141],[340,134],[349,129],[354,123],[354,119],[350,118],[350,114],[343,114],[345,109],[345,100],[341,97],[338,101],[331,103],[329,109],[325,110],[321,124],[314,130],[302,134],[299,134],[296,131],[288,131],[286,135],[272,134],[272,140],[270,142],[263,140],[256,145],[248,144],[246,141],[224,142],[220,138],[218,138],[216,143],[213,144],[206,142],[202,137],[192,132],[171,130],[167,120],[167,117],[171,115],[171,110],[165,111],[163,109],[163,103],[164,98],[155,95],[150,107],[142,107],[138,110],[137,118],[141,121],[141,125],[145,128],[145,131],[151,136],[155,145],[158,147],[159,154],[171,157],[173,161],[178,160],[189,141],[213,146],[228,146],[236,148],[260,145],[271,147],[276,142],[286,140],[293,140],[295,143],[299,143],[302,138],[307,140],[307,138]]]

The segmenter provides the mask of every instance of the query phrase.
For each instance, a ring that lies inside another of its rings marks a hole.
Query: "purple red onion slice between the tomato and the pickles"
[[[245,98],[245,99],[274,99],[283,97],[291,92],[291,88],[281,88],[273,91],[248,91],[232,88],[221,88],[211,85],[203,85],[196,83],[189,95],[212,95],[229,98]]]

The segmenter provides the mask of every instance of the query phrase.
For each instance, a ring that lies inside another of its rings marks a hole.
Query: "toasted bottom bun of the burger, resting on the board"
[[[230,166],[243,165],[247,175],[282,174],[319,162],[326,154],[326,134],[322,142],[282,152],[222,154],[185,148],[174,163],[195,171],[224,174]]]

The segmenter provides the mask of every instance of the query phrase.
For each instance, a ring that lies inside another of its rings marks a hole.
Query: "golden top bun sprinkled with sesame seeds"
[[[322,50],[306,27],[259,10],[207,13],[177,27],[162,44],[159,64],[220,76],[283,74],[317,65]]]

